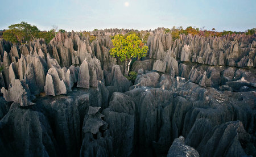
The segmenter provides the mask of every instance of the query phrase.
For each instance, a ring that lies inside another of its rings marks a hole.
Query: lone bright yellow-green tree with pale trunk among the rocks
[[[148,46],[144,45],[135,33],[126,38],[123,35],[115,35],[112,43],[114,48],[110,49],[110,54],[119,57],[121,62],[129,61],[126,75],[129,73],[132,58],[139,60],[147,55]]]

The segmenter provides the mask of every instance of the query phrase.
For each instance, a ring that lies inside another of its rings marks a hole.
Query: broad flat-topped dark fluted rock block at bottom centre
[[[155,151],[168,151],[171,145],[171,92],[160,88],[142,87],[125,94],[133,97],[135,102],[139,154],[151,156],[152,142],[155,143]]]

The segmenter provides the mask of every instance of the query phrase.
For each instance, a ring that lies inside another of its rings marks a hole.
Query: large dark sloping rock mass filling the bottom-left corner
[[[9,113],[0,121],[1,155],[59,156],[60,151],[47,118],[35,111],[35,108],[22,109],[18,106],[19,104],[13,103]],[[15,140],[10,142],[10,137]]]

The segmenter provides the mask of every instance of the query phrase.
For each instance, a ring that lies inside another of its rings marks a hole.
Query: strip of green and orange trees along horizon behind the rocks
[[[53,37],[56,36],[57,32],[65,32],[64,29],[59,29],[57,31],[57,26],[52,26],[52,29],[49,31],[40,31],[36,26],[31,26],[31,24],[28,24],[27,22],[21,22],[18,24],[11,24],[11,26],[8,27],[9,29],[6,30],[0,30],[0,38],[10,41],[13,44],[25,44],[28,43],[31,40],[35,40],[38,38],[43,38],[46,43],[49,43],[53,39]],[[94,29],[94,31],[98,31],[98,29]],[[164,33],[171,33],[172,38],[179,39],[179,36],[181,34],[191,34],[192,36],[198,35],[198,36],[225,36],[225,35],[233,35],[233,34],[243,34],[245,35],[254,35],[256,31],[256,28],[247,29],[245,32],[236,32],[236,31],[222,31],[217,32],[215,28],[212,28],[212,30],[206,30],[203,28],[196,28],[196,27],[187,27],[183,29],[183,27],[172,27],[170,28],[164,28]],[[142,41],[142,43],[147,43],[147,38],[150,36],[150,33],[148,31],[130,31],[126,33],[124,36],[125,38],[131,34],[135,33]],[[90,35],[90,32],[84,31],[80,32],[80,36],[89,36],[89,41],[92,42],[96,39],[96,36]],[[114,36],[111,36],[112,39]]]

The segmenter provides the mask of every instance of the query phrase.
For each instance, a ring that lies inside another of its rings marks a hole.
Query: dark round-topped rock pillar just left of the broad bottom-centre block
[[[130,156],[134,152],[135,142],[135,103],[131,97],[114,92],[109,107],[102,113],[109,124],[113,138],[113,155]]]

